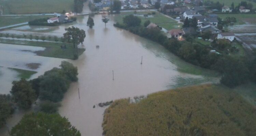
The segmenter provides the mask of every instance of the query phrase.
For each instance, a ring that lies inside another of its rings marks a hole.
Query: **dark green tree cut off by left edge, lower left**
[[[6,119],[11,116],[13,111],[11,96],[0,94],[0,128],[5,124]]]

